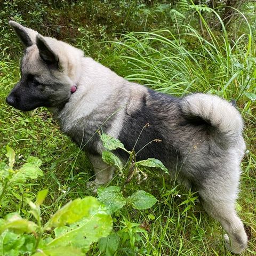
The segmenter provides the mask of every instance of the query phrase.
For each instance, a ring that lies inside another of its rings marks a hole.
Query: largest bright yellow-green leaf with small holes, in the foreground
[[[92,242],[97,242],[99,238],[109,235],[113,226],[111,215],[107,213],[96,198],[85,197],[81,200],[73,207],[69,203],[68,207],[63,207],[66,209],[65,211],[60,209],[54,214],[55,216],[51,219],[50,224],[51,226],[59,226],[59,228],[54,229],[55,238],[46,244],[47,249],[68,244],[72,247],[83,248],[83,251],[88,251]],[[82,215],[84,216],[82,220],[73,223],[73,217],[78,219]],[[72,224],[68,227],[61,227],[64,223]]]

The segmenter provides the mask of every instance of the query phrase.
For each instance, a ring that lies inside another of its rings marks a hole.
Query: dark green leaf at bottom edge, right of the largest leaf
[[[99,239],[99,250],[105,253],[105,256],[113,256],[117,251],[120,237],[115,233]]]

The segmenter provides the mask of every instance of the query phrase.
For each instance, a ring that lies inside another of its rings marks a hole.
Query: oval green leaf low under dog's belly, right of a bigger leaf
[[[139,190],[127,198],[127,203],[138,210],[148,209],[152,207],[156,201],[157,199],[153,195],[144,190]]]

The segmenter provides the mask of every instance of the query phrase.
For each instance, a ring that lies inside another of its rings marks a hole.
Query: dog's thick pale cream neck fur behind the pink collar
[[[111,97],[114,92],[123,91],[125,84],[124,78],[90,57],[83,58],[82,65],[77,67],[81,73],[78,72],[79,75],[70,79],[73,85],[77,86],[76,91],[71,93],[68,101],[63,102],[62,106],[49,109],[61,126],[65,127],[64,132],[73,129],[79,119],[87,119],[103,106],[111,105],[109,99],[113,99]],[[69,90],[71,91],[71,86]],[[120,95],[122,94],[120,92]]]

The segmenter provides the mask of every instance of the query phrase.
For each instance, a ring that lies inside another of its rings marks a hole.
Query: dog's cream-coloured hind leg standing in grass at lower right
[[[220,181],[218,178],[198,191],[201,203],[205,211],[226,230],[228,235],[224,238],[228,249],[233,253],[241,253],[247,245],[247,235],[235,211],[238,181],[233,184],[228,179]]]

